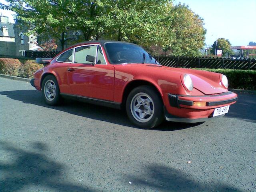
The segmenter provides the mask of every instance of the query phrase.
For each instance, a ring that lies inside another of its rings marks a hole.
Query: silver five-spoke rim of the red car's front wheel
[[[154,114],[154,102],[146,93],[138,93],[130,105],[132,116],[138,122],[148,122]]]

